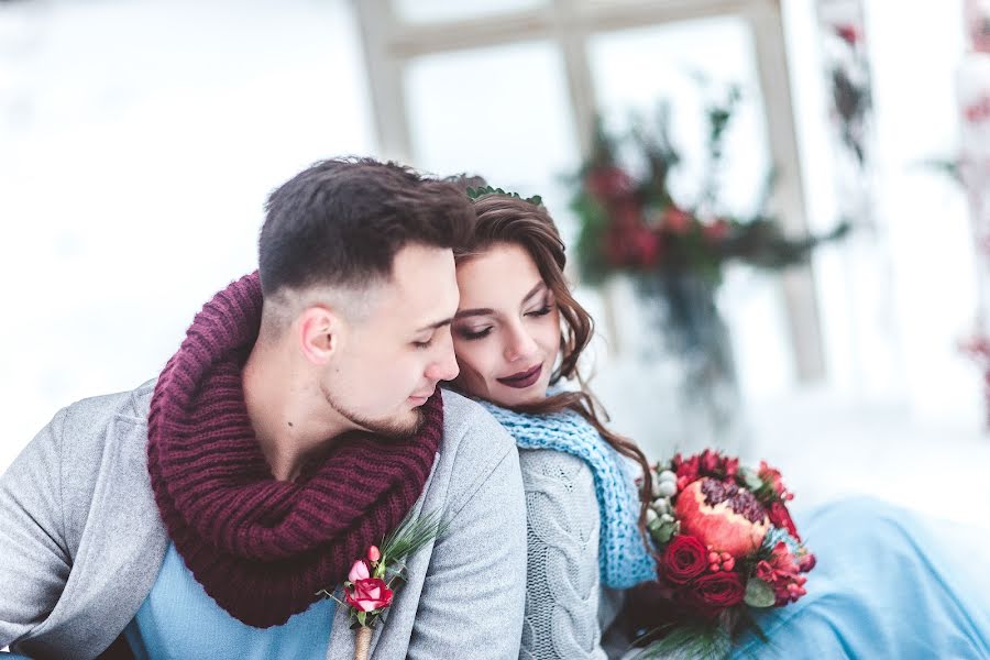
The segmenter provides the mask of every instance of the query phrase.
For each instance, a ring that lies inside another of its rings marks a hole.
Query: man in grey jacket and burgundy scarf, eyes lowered
[[[453,185],[370,160],[275,190],[258,273],[206,304],[156,382],[59,411],[0,477],[0,647],[350,658],[348,608],[316,594],[422,513],[443,531],[408,558],[371,657],[515,658],[515,444],[438,388],[472,219]]]

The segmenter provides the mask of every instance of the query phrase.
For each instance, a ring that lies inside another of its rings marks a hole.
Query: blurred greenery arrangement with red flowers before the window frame
[[[693,199],[678,199],[669,186],[682,157],[670,140],[670,105],[663,101],[651,123],[636,119],[625,135],[612,135],[597,122],[592,156],[571,178],[571,209],[579,220],[583,280],[596,285],[616,274],[632,278],[652,310],[663,350],[682,363],[685,402],[703,405],[717,437],[732,421],[737,399],[730,342],[716,300],[726,265],[780,270],[799,264],[815,246],[844,237],[849,224],[842,222],[825,235],[785,235],[768,212],[772,170],[755,208],[726,208],[719,174],[741,95],[729,85],[705,96],[703,180]]]

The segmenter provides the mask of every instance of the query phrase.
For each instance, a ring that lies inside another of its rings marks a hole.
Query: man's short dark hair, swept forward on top
[[[266,296],[387,278],[405,245],[453,249],[474,223],[454,184],[355,157],[311,165],[272,193],[265,210],[258,271]]]

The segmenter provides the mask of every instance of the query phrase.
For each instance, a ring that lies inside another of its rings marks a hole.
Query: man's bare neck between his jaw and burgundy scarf
[[[349,430],[320,395],[293,369],[293,356],[278,345],[255,344],[241,380],[248,417],[272,475],[293,481],[307,458]]]

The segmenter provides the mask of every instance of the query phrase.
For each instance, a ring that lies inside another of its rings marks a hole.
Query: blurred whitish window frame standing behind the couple
[[[574,139],[586,155],[595,118],[587,62],[591,35],[674,21],[738,16],[752,31],[770,157],[778,168],[772,210],[787,232],[807,232],[779,0],[548,0],[535,9],[439,23],[403,22],[389,0],[354,0],[354,6],[381,153],[414,163],[403,77],[406,64],[415,57],[524,41],[556,44],[566,70],[578,132]],[[825,367],[811,267],[785,272],[781,285],[795,376],[801,382],[821,380]]]

